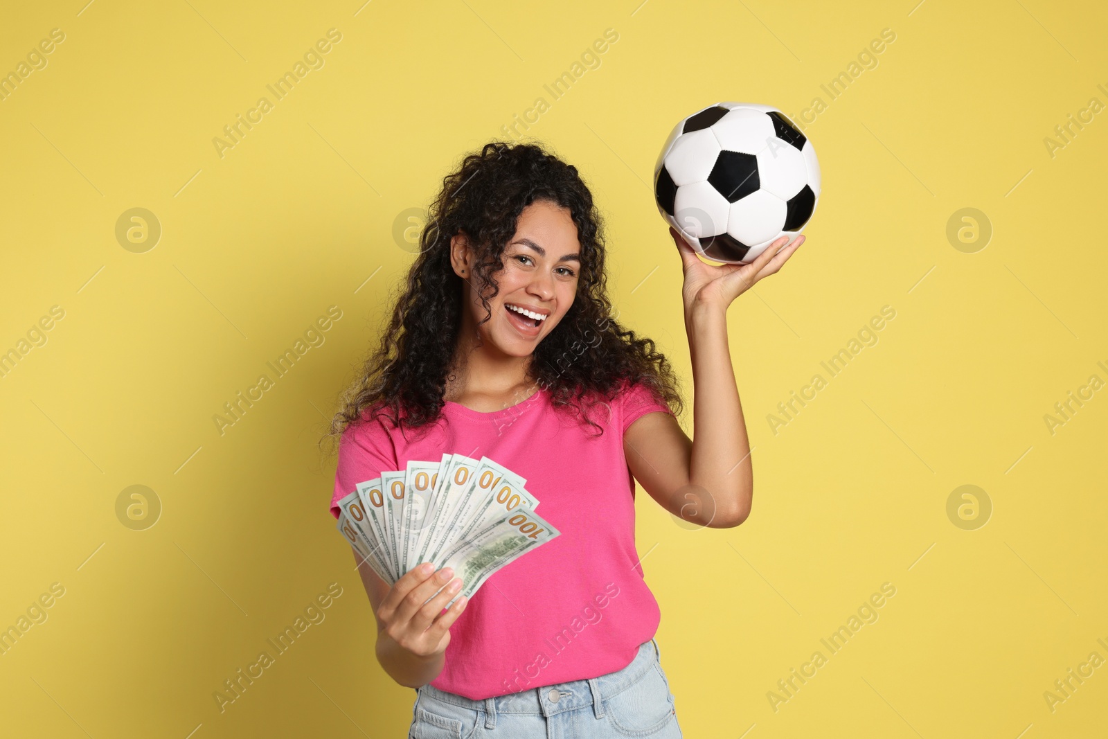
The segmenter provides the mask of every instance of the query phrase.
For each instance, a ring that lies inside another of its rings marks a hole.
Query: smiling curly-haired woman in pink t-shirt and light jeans
[[[670,229],[694,443],[671,410],[681,399],[666,358],[612,316],[601,217],[575,167],[536,145],[490,143],[444,178],[429,215],[380,348],[332,424],[331,513],[357,483],[410,459],[488,455],[526,479],[561,535],[472,603],[455,599],[449,569],[424,563],[390,587],[355,555],[378,661],[417,688],[410,736],[679,737],[635,548],[634,481],[691,524],[749,515],[726,310],[803,237],[750,265],[710,266]]]

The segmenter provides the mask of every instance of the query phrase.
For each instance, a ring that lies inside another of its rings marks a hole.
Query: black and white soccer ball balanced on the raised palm
[[[812,142],[781,111],[716,103],[678,123],[654,167],[658,212],[696,252],[748,264],[790,240],[820,198]]]

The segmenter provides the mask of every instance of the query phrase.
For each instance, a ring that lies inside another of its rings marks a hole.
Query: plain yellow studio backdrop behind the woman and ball
[[[729,312],[752,515],[688,531],[638,497],[685,736],[1104,736],[1108,667],[1053,712],[1043,697],[1090,651],[1108,658],[1108,392],[1054,434],[1044,422],[1108,380],[1108,113],[1054,157],[1044,145],[1108,103],[1100,3],[75,0],[3,16],[2,72],[65,34],[0,102],[0,350],[65,311],[0,379],[0,627],[65,588],[0,656],[3,733],[403,736],[414,692],[373,658],[317,450],[411,261],[398,215],[546,97],[529,134],[593,187],[620,318],[691,401],[679,259],[648,186],[658,148],[716,101],[796,115],[821,96],[808,242]],[[330,28],[325,65],[220,158],[212,140]],[[607,28],[601,65],[553,101],[543,84]],[[829,100],[820,85],[885,28],[876,68]],[[115,238],[133,207],[162,227],[142,254]],[[946,238],[964,207],[994,230],[974,254]],[[220,435],[223,403],[331,305],[326,343]],[[777,403],[885,305],[880,341],[774,434]],[[145,531],[116,517],[134,484],[163,509]],[[975,531],[946,514],[963,484],[993,504]],[[332,582],[326,620],[220,714],[212,694]],[[880,619],[774,711],[777,680],[885,582]]]

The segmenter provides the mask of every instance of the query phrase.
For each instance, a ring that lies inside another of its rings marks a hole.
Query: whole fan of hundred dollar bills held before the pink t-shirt
[[[524,483],[488,456],[410,460],[340,500],[338,530],[390,585],[431,562],[462,578],[455,599],[471,597],[497,569],[560,533],[535,513],[538,501]]]

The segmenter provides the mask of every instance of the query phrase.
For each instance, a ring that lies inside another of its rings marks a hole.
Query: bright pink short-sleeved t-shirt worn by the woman
[[[339,444],[331,515],[359,482],[408,460],[482,455],[526,479],[535,512],[561,534],[481,586],[451,626],[442,673],[431,685],[481,700],[597,677],[630,664],[658,628],[658,604],[635,548],[635,481],[624,455],[627,427],[669,413],[645,386],[591,410],[604,428],[581,425],[540,390],[480,412],[448,401],[443,418],[404,435],[380,418],[347,429]]]

